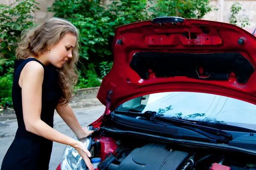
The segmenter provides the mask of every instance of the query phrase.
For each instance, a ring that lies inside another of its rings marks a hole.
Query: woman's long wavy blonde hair
[[[76,36],[76,46],[72,49],[73,57],[68,59],[62,68],[57,68],[58,82],[62,91],[59,102],[62,105],[71,101],[73,85],[76,85],[79,77],[76,68],[79,60],[79,30],[69,21],[53,17],[34,28],[24,30],[16,49],[17,59],[27,59],[32,56],[36,58],[49,47],[57,44],[66,33]]]

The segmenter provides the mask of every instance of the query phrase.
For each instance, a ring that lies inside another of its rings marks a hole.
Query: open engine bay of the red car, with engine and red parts
[[[251,154],[103,132],[90,152],[101,158],[98,170],[256,170]]]

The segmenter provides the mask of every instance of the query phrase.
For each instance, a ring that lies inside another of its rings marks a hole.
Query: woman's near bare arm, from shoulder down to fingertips
[[[22,88],[23,119],[26,130],[54,142],[74,147],[84,159],[89,170],[93,170],[93,165],[88,158],[90,152],[82,142],[58,132],[41,120],[43,79],[44,68],[38,62],[28,62],[21,71],[19,85]]]

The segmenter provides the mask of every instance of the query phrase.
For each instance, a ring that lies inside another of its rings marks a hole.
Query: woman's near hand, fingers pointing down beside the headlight
[[[77,150],[77,152],[84,159],[84,162],[87,165],[87,167],[89,168],[89,170],[93,170],[93,164],[90,162],[90,159],[88,158],[88,157],[91,157],[91,154],[86,149],[83,142],[77,141],[76,144],[73,147]]]

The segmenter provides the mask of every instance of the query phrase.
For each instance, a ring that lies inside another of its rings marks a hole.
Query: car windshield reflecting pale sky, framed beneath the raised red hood
[[[256,105],[226,96],[195,92],[165,92],[131,99],[115,111],[144,113],[256,130]]]

